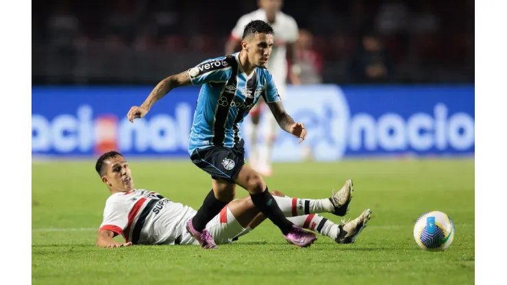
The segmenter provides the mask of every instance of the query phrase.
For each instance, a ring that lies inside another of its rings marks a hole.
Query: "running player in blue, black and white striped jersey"
[[[264,179],[245,164],[240,125],[260,97],[284,131],[299,138],[299,143],[306,138],[304,124],[295,122],[284,110],[273,76],[266,69],[273,49],[273,33],[268,23],[251,21],[243,30],[240,52],[206,60],[184,73],[163,79],[141,106],[134,106],[127,113],[133,122],[145,116],[173,88],[201,86],[188,153],[196,166],[211,175],[212,190],[186,227],[204,249],[217,247],[206,224],[234,199],[236,184],[249,192],[253,204],[290,243],[306,247],[317,239],[315,234],[286,219]]]

